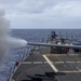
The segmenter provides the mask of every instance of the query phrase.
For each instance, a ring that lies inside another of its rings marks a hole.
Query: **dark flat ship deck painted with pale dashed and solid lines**
[[[31,54],[22,62],[14,81],[81,81],[80,54]]]

